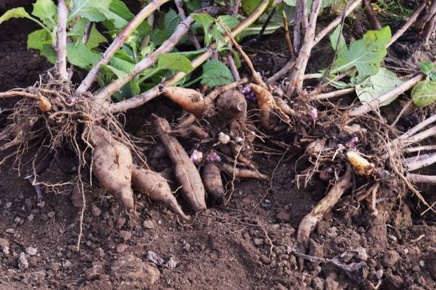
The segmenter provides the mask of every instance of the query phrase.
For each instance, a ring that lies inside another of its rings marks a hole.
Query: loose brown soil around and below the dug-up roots
[[[33,85],[49,68],[36,51],[26,50],[33,29],[24,19],[1,24],[0,91]],[[254,65],[262,65],[263,73],[286,62],[284,42],[274,44],[282,37],[275,33],[262,40],[264,52]],[[0,101],[1,109],[9,105]],[[147,110],[137,109],[128,119],[130,133],[138,134],[137,122],[144,122]],[[362,247],[368,257],[359,258],[365,262],[360,283],[332,264],[306,262],[300,271],[289,249],[299,222],[327,184],[313,181],[302,188],[292,182],[296,164],[305,165],[299,154],[260,156],[261,172],[269,173],[271,181],[235,183],[227,208],[209,208],[187,225],[165,205],[140,195],[135,218],[98,186],[87,190],[79,252],[82,196],[71,186],[44,187],[38,200],[26,176],[11,170],[18,164],[7,162],[0,166],[0,290],[373,289],[371,283],[379,279],[379,289],[436,289],[436,228],[431,218],[418,215],[422,208],[412,197],[379,203],[380,218],[344,198],[311,235],[309,254],[316,257],[333,258]],[[74,166],[69,159],[57,161],[42,178],[71,179]],[[425,196],[432,201],[434,190]],[[352,260],[359,262],[356,257],[347,262]]]

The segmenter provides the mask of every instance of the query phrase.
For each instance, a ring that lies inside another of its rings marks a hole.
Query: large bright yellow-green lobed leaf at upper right
[[[332,73],[343,73],[350,68],[357,68],[359,75],[375,75],[380,63],[388,53],[386,45],[390,41],[389,26],[379,31],[368,31],[362,39],[353,41],[348,50],[337,55]]]

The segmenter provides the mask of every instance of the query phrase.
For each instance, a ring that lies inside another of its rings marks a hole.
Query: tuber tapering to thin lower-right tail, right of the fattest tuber
[[[133,165],[132,184],[134,188],[142,193],[142,195],[150,198],[150,200],[162,201],[166,203],[175,214],[179,215],[180,218],[190,220],[190,217],[183,213],[176,198],[172,195],[167,181],[159,173]]]

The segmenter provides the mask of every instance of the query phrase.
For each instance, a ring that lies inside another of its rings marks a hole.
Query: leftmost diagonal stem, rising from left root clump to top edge
[[[109,60],[115,55],[117,50],[123,46],[124,42],[136,30],[137,26],[140,26],[142,21],[144,21],[147,16],[152,14],[153,11],[158,9],[162,4],[165,4],[169,0],[153,0],[150,4],[145,6],[140,13],[138,13],[135,18],[132,19],[125,26],[124,30],[113,40],[108,49],[103,53],[100,60],[93,66],[88,75],[86,75],[85,79],[81,82],[81,85],[77,88],[76,92],[83,93],[89,89],[89,87],[93,84],[95,79],[97,78],[98,73],[100,72],[100,65],[105,65],[109,63]]]

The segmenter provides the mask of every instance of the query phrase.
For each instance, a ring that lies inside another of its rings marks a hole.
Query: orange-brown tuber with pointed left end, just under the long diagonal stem
[[[197,118],[201,118],[206,103],[202,94],[197,90],[185,89],[183,87],[162,87],[162,94],[170,98],[173,102],[180,105],[186,112],[193,114]]]

